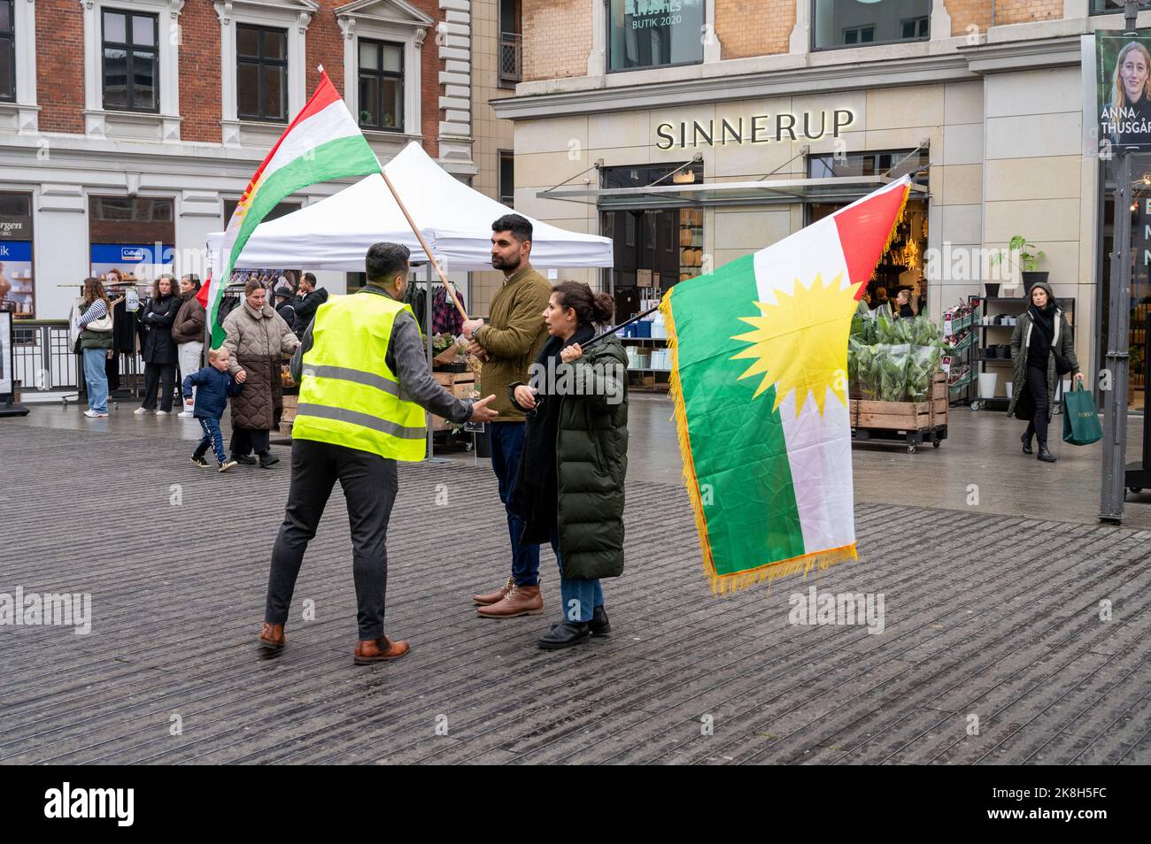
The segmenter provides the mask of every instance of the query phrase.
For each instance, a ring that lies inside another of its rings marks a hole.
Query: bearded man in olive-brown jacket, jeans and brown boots
[[[512,513],[512,488],[519,474],[524,451],[524,414],[508,397],[508,385],[526,382],[527,369],[540,354],[548,337],[543,309],[551,297],[551,285],[528,262],[532,253],[532,223],[519,214],[505,214],[491,223],[491,267],[503,270],[503,287],[491,299],[489,323],[468,320],[464,336],[471,338],[468,351],[483,360],[480,377],[483,392],[494,393],[493,408],[500,414],[488,425],[491,440],[491,468],[500,478],[500,500],[508,512],[511,538],[511,577],[494,592],[473,594],[477,612],[487,619],[512,619],[543,612],[540,594],[540,546],[520,544],[524,522]]]

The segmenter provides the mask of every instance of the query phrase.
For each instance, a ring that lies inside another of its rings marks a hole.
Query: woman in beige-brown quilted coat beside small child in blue
[[[231,456],[254,465],[250,455],[256,452],[266,469],[280,462],[272,454],[270,431],[283,406],[282,355],[295,352],[299,338],[267,304],[267,291],[254,281],[244,287],[244,304],[224,319],[223,330],[223,345],[231,352],[229,369],[247,373],[243,392],[231,400]]]

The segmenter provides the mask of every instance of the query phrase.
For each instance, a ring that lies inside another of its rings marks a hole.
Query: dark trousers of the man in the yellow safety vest
[[[396,461],[310,439],[297,439],[291,445],[288,508],[272,548],[264,620],[269,624],[288,621],[304,552],[315,536],[336,481],[344,491],[351,524],[359,637],[378,639],[383,636],[383,603],[388,585],[388,520],[399,488]]]

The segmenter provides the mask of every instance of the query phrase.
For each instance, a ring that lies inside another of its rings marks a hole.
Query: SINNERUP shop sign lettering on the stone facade
[[[661,149],[688,146],[726,146],[727,144],[767,144],[771,140],[820,140],[838,138],[855,122],[849,108],[794,114],[755,114],[733,120],[680,121],[655,128],[656,146]]]

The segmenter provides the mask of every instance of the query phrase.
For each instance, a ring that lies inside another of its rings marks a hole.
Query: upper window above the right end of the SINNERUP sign
[[[931,0],[811,0],[811,46],[922,41],[931,37]]]

